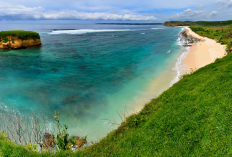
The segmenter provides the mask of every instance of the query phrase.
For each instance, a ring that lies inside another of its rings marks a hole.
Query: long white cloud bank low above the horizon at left
[[[49,20],[133,20],[133,21],[154,21],[154,16],[144,16],[130,11],[123,11],[124,14],[104,12],[78,12],[76,10],[46,10],[39,7],[0,6],[0,19],[4,20],[25,20],[25,19],[49,19]],[[125,13],[126,12],[126,13]]]

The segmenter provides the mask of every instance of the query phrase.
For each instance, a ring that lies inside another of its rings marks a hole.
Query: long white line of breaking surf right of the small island
[[[61,30],[61,31],[52,31],[48,34],[86,34],[86,33],[95,33],[95,32],[121,32],[129,31],[130,29],[79,29],[79,30]]]

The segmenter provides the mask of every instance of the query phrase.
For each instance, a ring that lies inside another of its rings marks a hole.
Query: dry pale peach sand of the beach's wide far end
[[[217,43],[213,39],[202,37],[193,32],[189,27],[185,27],[187,34],[202,41],[194,43],[190,47],[190,51],[186,58],[182,61],[183,69],[182,74],[190,71],[190,68],[197,70],[205,65],[213,63],[215,59],[222,58],[226,55],[226,46]]]

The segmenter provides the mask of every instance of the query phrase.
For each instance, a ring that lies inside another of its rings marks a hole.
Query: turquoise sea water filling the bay
[[[164,72],[168,82],[164,86],[170,86],[183,51],[177,44],[181,28],[7,25],[0,29],[37,31],[43,43],[0,52],[1,105],[20,108],[25,115],[39,110],[50,126],[54,110],[59,111],[72,135],[88,135],[89,140],[115,129],[117,125],[110,122],[120,124],[119,113],[131,113],[141,97],[148,101],[158,94],[146,95]]]

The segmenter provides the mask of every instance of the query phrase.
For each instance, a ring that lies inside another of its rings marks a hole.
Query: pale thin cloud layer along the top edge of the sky
[[[212,0],[7,0],[1,3],[42,6],[49,9],[70,9],[79,11],[108,11],[109,9],[152,10],[161,8],[188,8],[199,4],[208,5]]]

